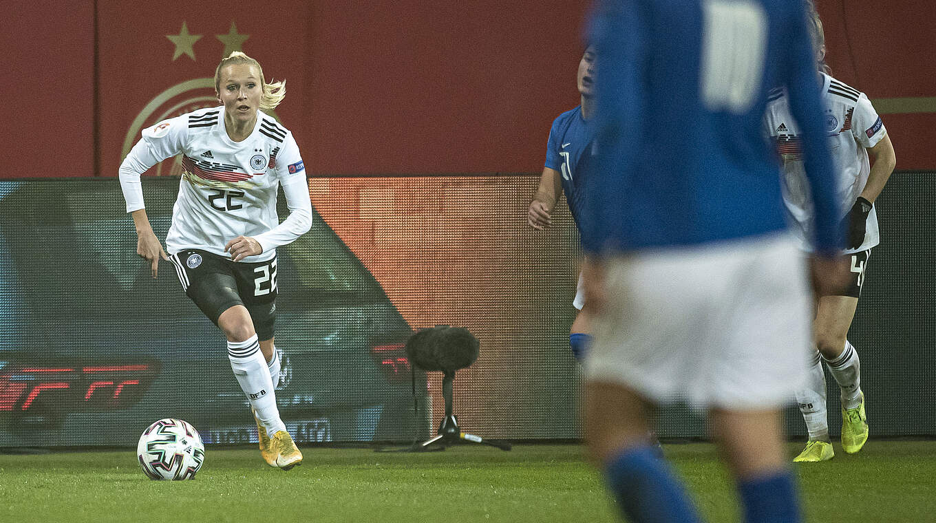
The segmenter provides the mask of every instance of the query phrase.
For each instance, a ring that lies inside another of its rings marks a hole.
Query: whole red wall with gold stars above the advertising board
[[[898,168],[936,167],[936,35],[917,23],[936,5],[818,3],[828,62],[884,114]],[[549,123],[577,103],[587,5],[18,0],[0,22],[12,57],[0,137],[55,161],[0,176],[114,176],[142,125],[215,104],[206,79],[233,49],[288,80],[277,116],[313,174],[538,172]]]

